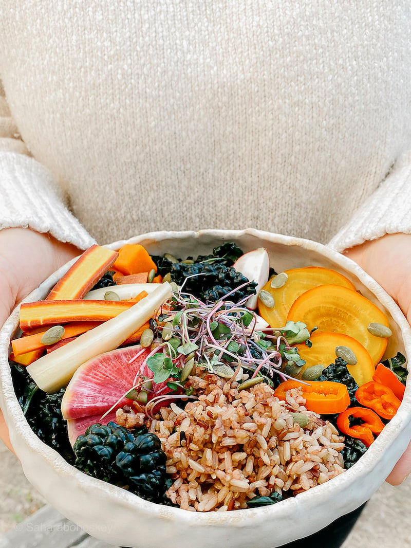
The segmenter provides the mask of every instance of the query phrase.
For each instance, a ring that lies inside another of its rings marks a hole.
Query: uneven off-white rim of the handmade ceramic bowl
[[[336,262],[342,269],[350,272],[356,276],[361,283],[366,286],[370,292],[372,292],[376,298],[385,306],[391,313],[393,320],[397,323],[401,329],[404,346],[411,356],[411,329],[403,316],[401,310],[399,310],[395,301],[385,293],[385,291],[374,281],[366,272],[364,272],[355,262],[335,252],[333,249],[323,246],[317,242],[312,242],[304,238],[295,238],[290,236],[278,235],[271,232],[259,231],[255,229],[246,229],[242,231],[237,230],[204,230],[204,231],[182,231],[182,232],[164,232],[156,231],[149,232],[140,236],[135,236],[129,239],[123,239],[117,242],[113,242],[107,247],[116,249],[124,243],[134,243],[151,240],[158,242],[164,239],[174,238],[186,238],[186,239],[198,239],[202,237],[206,238],[218,238],[225,239],[225,241],[231,241],[231,239],[238,239],[244,235],[253,236],[255,238],[266,239],[272,243],[283,244],[286,246],[298,246],[303,247],[306,250],[312,250],[325,256],[332,262]],[[61,269],[53,273],[47,280],[45,280],[41,286],[35,289],[26,299],[22,302],[28,302],[38,300],[39,295],[43,294],[45,288],[51,287],[55,281],[62,276],[62,274],[68,269],[68,267],[75,262],[76,259],[68,262],[62,266]],[[40,439],[32,432],[30,426],[22,414],[22,410],[18,403],[17,398],[14,395],[13,384],[11,375],[9,373],[8,359],[4,355],[4,350],[9,348],[10,335],[12,335],[16,329],[18,322],[20,305],[18,305],[12,312],[12,315],[5,322],[2,330],[0,331],[0,404],[3,409],[6,422],[13,425],[13,429],[10,431],[12,437],[13,446],[16,448],[16,454],[19,456],[22,454],[19,441],[24,441],[26,446],[31,452],[41,455],[41,458],[47,461],[48,465],[60,475],[69,475],[73,483],[73,488],[89,489],[89,493],[92,496],[102,496],[103,493],[116,499],[117,503],[123,506],[132,506],[134,510],[139,510],[142,513],[150,514],[150,516],[157,516],[158,518],[166,518],[167,520],[176,521],[180,524],[187,524],[190,527],[195,527],[197,524],[218,525],[223,523],[224,526],[229,527],[246,527],[252,524],[253,527],[258,526],[262,521],[266,521],[267,518],[277,519],[281,518],[284,513],[298,511],[301,505],[304,505],[306,501],[310,499],[318,499],[326,496],[329,500],[335,501],[335,498],[343,490],[347,488],[355,488],[356,482],[362,482],[362,480],[368,475],[371,469],[379,467],[381,469],[381,463],[384,458],[385,449],[396,441],[396,453],[399,456],[403,450],[406,449],[408,442],[402,441],[398,443],[399,433],[403,431],[410,431],[411,422],[411,387],[407,386],[404,400],[401,407],[398,409],[396,415],[391,419],[390,423],[384,428],[380,436],[376,438],[372,446],[367,450],[358,463],[346,470],[343,474],[336,476],[332,479],[332,482],[326,482],[315,488],[307,490],[307,492],[300,493],[294,498],[285,499],[280,505],[275,504],[271,506],[259,507],[258,509],[246,509],[236,510],[235,512],[187,512],[178,507],[163,506],[155,503],[151,503],[145,499],[141,499],[138,495],[128,493],[124,489],[112,486],[111,484],[100,481],[89,476],[84,475],[83,472],[77,470],[74,466],[67,463],[54,449],[45,445]],[[7,364],[7,368],[6,368]],[[24,459],[25,460],[25,459]],[[26,471],[30,463],[22,463]],[[386,475],[391,470],[386,471]],[[381,475],[381,473],[380,473]],[[384,477],[381,477],[383,483]],[[38,488],[36,486],[36,488]],[[40,490],[40,489],[39,489]],[[375,489],[374,489],[375,490]],[[372,494],[372,493],[370,493]],[[367,494],[365,500],[370,496]],[[359,506],[364,502],[361,497],[355,499],[354,506]],[[315,504],[315,502],[313,503]],[[350,511],[350,510],[349,510]],[[346,511],[340,511],[339,515],[343,515]],[[333,517],[335,519],[335,517]],[[327,524],[327,523],[326,523]],[[295,539],[294,539],[295,540]]]

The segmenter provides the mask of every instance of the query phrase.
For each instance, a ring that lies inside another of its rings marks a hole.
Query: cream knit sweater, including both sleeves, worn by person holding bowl
[[[411,232],[409,0],[4,0],[0,43],[0,228]]]

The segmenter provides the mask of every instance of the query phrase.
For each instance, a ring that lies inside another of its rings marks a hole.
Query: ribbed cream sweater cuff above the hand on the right
[[[347,200],[351,199],[347,196]],[[397,232],[411,233],[411,151],[393,165],[378,189],[355,209],[329,246],[343,252],[365,241]]]

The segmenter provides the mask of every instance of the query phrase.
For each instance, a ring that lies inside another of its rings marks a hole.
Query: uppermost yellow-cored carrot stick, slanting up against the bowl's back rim
[[[82,299],[117,257],[118,253],[109,248],[89,247],[55,284],[46,300]]]

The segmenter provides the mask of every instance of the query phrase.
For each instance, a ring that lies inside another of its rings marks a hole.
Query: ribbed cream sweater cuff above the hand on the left
[[[0,152],[0,230],[24,227],[49,232],[80,249],[93,243],[89,233],[66,209],[52,174],[33,158]]]

